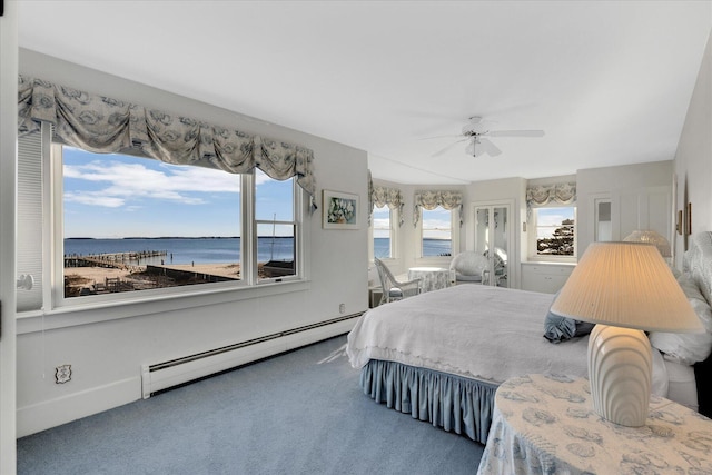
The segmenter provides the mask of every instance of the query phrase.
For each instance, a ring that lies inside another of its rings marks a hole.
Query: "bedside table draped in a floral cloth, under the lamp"
[[[478,474],[712,473],[712,420],[651,397],[643,427],[593,410],[587,379],[528,375],[500,386]]]

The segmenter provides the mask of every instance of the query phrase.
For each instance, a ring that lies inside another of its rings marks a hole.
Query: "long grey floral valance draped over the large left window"
[[[296,177],[314,196],[314,152],[188,117],[20,76],[20,135],[55,126],[55,138],[93,152],[141,154],[176,165],[245,174],[257,167],[277,180]]]

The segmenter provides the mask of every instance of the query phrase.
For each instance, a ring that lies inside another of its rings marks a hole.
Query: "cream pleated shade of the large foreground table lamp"
[[[589,245],[552,311],[651,331],[704,330],[657,248],[641,243]]]

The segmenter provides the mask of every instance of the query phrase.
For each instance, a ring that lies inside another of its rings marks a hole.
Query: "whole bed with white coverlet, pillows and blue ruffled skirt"
[[[712,234],[691,239],[684,269],[679,281],[685,293],[696,291],[691,298],[704,299],[698,307],[706,333],[693,344],[690,335],[651,334],[653,346],[657,339],[666,350],[653,352],[653,393],[692,408],[699,403],[702,412],[710,398]],[[558,344],[543,337],[553,299],[481,285],[421,294],[365,313],[346,353],[377,403],[485,444],[494,393],[504,380],[532,373],[587,376],[587,336]]]

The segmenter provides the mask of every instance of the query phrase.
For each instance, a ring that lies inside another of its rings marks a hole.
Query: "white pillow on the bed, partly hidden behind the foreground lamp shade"
[[[691,334],[652,331],[649,335],[650,344],[663,352],[668,359],[684,365],[694,365],[704,362],[712,353],[712,308],[686,274],[678,277],[678,283],[698,314],[705,331]]]

